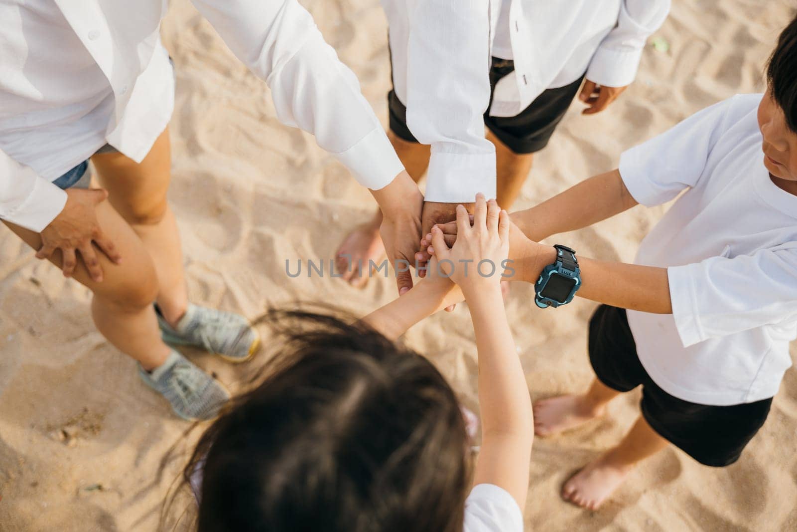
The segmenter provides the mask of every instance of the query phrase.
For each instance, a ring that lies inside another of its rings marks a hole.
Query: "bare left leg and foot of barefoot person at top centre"
[[[430,147],[426,144],[403,140],[391,131],[387,132],[387,138],[391,140],[398,159],[404,164],[407,173],[418,183],[418,180],[426,172],[426,168],[429,167]],[[382,225],[382,211],[377,208],[369,221],[355,227],[351,233],[347,234],[335,253],[338,270],[352,286],[365,286],[368,278],[366,275],[360,277],[356,267],[347,270],[349,263],[347,257],[343,255],[351,257],[351,264],[359,264],[358,261],[362,261],[363,265],[367,265],[369,260],[379,262],[379,259],[383,258],[385,254],[385,246],[382,243],[382,238],[379,237],[380,225]],[[367,269],[363,268],[363,273],[366,272]]]

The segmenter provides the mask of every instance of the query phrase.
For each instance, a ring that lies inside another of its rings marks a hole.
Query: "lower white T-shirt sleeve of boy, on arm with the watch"
[[[797,319],[797,242],[667,269],[684,347]]]

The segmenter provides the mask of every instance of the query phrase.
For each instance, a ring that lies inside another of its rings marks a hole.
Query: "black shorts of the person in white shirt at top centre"
[[[511,59],[493,57],[490,68],[490,103],[493,102],[492,90],[495,90],[498,80],[514,69],[515,64]],[[489,116],[489,111],[485,112],[485,125],[512,152],[539,152],[548,144],[571,101],[579,93],[581,81],[583,76],[570,85],[545,90],[516,116]],[[391,131],[407,142],[418,142],[406,127],[406,106],[398,100],[393,89],[387,93],[387,108],[390,109]]]

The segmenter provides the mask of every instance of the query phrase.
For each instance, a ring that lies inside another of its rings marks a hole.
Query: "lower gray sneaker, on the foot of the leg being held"
[[[139,376],[155,392],[166,397],[175,414],[183,420],[212,420],[230,399],[230,392],[218,380],[175,350],[152,372],[139,365]]]

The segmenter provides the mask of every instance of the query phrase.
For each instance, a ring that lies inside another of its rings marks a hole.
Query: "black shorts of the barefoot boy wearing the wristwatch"
[[[642,367],[625,309],[601,305],[590,320],[589,352],[598,379],[618,392],[642,385],[642,416],[654,431],[707,466],[736,462],[764,424],[771,399],[732,406],[689,403],[659,388]]]

